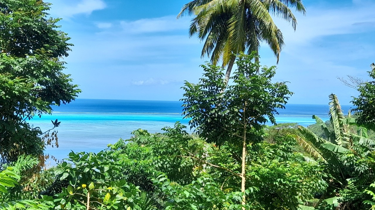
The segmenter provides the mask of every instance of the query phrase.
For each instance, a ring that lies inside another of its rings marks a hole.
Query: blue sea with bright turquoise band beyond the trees
[[[71,150],[98,152],[119,138],[128,139],[139,128],[154,133],[176,121],[186,125],[188,122],[182,120],[181,102],[176,101],[77,99],[53,109],[52,115],[35,117],[30,124],[48,130],[51,120],[61,121],[57,127],[59,148],[46,149],[46,153],[58,159],[65,158]],[[350,106],[342,109],[346,114]],[[315,123],[313,114],[328,120],[328,110],[328,105],[288,104],[279,111],[276,121],[308,126]]]

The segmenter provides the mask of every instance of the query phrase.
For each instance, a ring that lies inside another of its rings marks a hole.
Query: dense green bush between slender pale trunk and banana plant
[[[249,186],[257,189],[254,201],[269,208],[298,209],[315,194],[324,192],[327,183],[323,166],[305,161],[295,152],[296,141],[285,135],[275,143],[260,142],[249,149]]]

